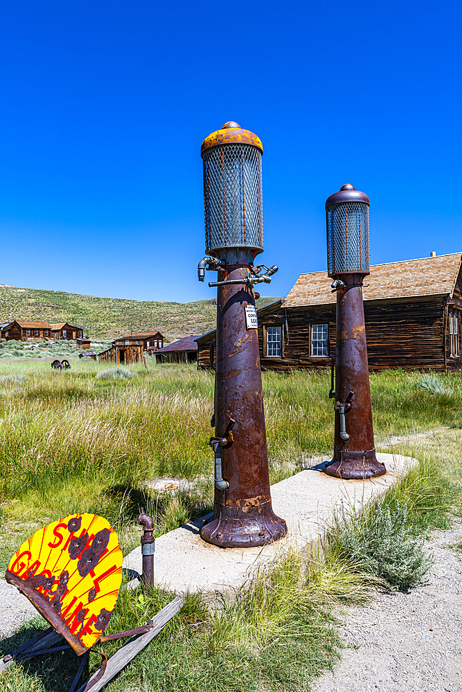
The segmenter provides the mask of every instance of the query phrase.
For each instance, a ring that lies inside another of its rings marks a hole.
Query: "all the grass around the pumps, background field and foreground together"
[[[75,361],[69,371],[48,363],[0,363],[0,560],[51,520],[74,511],[105,516],[126,553],[139,544],[141,508],[156,535],[212,507],[213,374],[193,365],[130,366],[129,379],[98,379],[110,365]],[[333,444],[328,373],[263,374],[272,482],[304,468]],[[385,495],[387,507],[406,502],[414,536],[445,528],[460,510],[462,378],[441,376],[431,390],[421,374],[371,376],[377,446],[389,435],[451,426],[396,451],[419,461]],[[390,451],[390,450],[387,450]],[[157,476],[188,479],[189,489],[152,491]],[[364,516],[373,506],[364,508]],[[308,690],[335,663],[341,641],[335,619],[341,605],[370,599],[384,582],[345,559],[335,542],[310,558],[292,555],[261,574],[235,599],[211,608],[200,594],[127,667],[108,692],[119,690]],[[121,591],[112,630],[152,617],[172,594]],[[30,636],[35,621],[8,650]],[[111,653],[116,644],[107,645]],[[92,655],[93,656],[93,655]],[[96,655],[91,666],[98,664]],[[69,687],[75,657],[35,659],[0,677],[0,691],[60,692]],[[9,686],[7,686],[9,685]],[[67,687],[66,687],[67,685]]]

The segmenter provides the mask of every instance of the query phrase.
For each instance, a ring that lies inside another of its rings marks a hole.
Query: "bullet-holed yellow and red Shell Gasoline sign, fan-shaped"
[[[35,605],[78,655],[103,634],[122,580],[118,536],[96,514],[71,514],[31,536],[6,581]]]

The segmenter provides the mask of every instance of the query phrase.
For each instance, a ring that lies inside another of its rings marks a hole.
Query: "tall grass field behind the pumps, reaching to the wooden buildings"
[[[135,540],[130,522],[141,505],[157,502],[159,533],[175,527],[175,517],[180,522],[211,507],[206,441],[213,374],[193,365],[150,363],[148,371],[130,367],[130,379],[96,377],[110,370],[94,361],[75,361],[61,372],[48,363],[0,363],[0,377],[7,378],[0,379],[1,567],[30,527],[73,511],[98,511],[118,522],[129,549]],[[389,434],[460,425],[459,374],[445,378],[451,394],[421,389],[419,377],[400,371],[371,376],[379,443]],[[276,482],[332,448],[332,402],[327,373],[264,373],[263,387],[270,476]],[[425,480],[416,480],[416,495],[425,498],[417,504],[433,502],[439,492],[428,469],[419,472]],[[160,497],[145,485],[157,476],[196,485],[175,500]]]

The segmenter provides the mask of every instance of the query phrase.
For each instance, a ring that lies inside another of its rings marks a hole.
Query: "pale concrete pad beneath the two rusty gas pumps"
[[[305,471],[276,483],[271,488],[273,509],[287,522],[287,536],[254,548],[219,548],[205,543],[199,529],[211,515],[156,538],[154,579],[158,586],[186,592],[226,592],[236,590],[264,567],[287,555],[290,550],[309,549],[323,536],[332,522],[335,507],[343,502],[358,511],[362,504],[387,491],[416,459],[377,453],[387,473],[371,480],[341,480],[322,473],[327,457],[312,459]],[[126,570],[142,572],[141,546],[123,561]],[[130,583],[132,587],[138,579]]]

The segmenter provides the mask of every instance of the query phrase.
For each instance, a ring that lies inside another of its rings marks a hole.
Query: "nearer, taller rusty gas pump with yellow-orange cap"
[[[266,545],[287,533],[272,510],[254,284],[277,266],[254,265],[263,252],[263,145],[237,122],[206,137],[206,257],[197,274],[217,271],[215,349],[215,504],[201,536],[221,547]],[[213,350],[211,361],[213,365]]]

